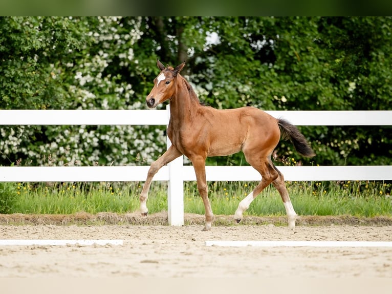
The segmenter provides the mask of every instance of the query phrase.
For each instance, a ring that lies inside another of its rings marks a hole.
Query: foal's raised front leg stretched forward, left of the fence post
[[[173,145],[170,146],[166,152],[159,157],[156,161],[151,163],[151,166],[148,170],[147,179],[144,183],[142,193],[140,193],[140,213],[142,216],[147,216],[148,208],[146,205],[148,198],[148,191],[150,190],[151,181],[153,180],[154,175],[161,169],[161,167],[170,161],[175,160],[177,157],[181,156],[182,153],[177,150],[177,148]]]

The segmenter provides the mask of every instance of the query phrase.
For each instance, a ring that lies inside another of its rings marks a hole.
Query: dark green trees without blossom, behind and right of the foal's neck
[[[184,19],[156,20],[160,28],[154,32],[175,40],[181,39],[176,32],[191,32],[191,37],[181,42],[186,46],[175,48],[179,41],[160,41],[155,53],[171,61],[186,50],[190,80],[199,97],[213,107],[390,109],[390,17],[202,17],[198,21],[195,25]],[[215,43],[206,44],[212,33],[217,36]],[[390,127],[300,129],[318,154],[314,163],[390,164]],[[282,142],[278,154],[290,156],[292,146]],[[238,164],[242,159],[234,155],[229,162]],[[227,158],[218,161],[225,163]]]

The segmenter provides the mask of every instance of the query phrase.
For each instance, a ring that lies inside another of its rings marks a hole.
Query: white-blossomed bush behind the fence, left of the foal
[[[142,35],[141,19],[92,20],[96,24],[87,32],[89,46],[70,49],[74,57],[65,63],[51,60],[51,78],[61,79],[66,87],[58,107],[143,109],[144,97],[135,94],[129,78],[141,71],[133,49]],[[3,162],[20,165],[149,164],[166,149],[164,131],[164,126],[137,125],[0,126],[0,156]]]

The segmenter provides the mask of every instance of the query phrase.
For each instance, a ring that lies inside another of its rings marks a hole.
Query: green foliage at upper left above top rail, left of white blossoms
[[[61,68],[89,45],[88,26],[78,18],[1,17],[0,27],[0,107],[61,106]]]

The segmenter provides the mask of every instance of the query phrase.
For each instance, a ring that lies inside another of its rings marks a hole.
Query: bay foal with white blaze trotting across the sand
[[[159,169],[185,155],[193,164],[197,186],[205,207],[205,226],[211,229],[213,213],[208,199],[205,161],[207,156],[225,156],[243,151],[246,160],[261,175],[262,180],[253,191],[239,202],[234,214],[237,223],[243,218],[252,200],[272,183],[278,190],[286,208],[288,226],[295,227],[297,214],[291,204],[283,175],[271,161],[271,154],[282,135],[290,139],[297,152],[303,156],[315,155],[298,129],[283,119],[276,119],[266,112],[253,108],[217,110],[203,106],[188,81],[180,75],[185,62],[176,68],[165,67],[157,59],[161,70],[154,79],[154,87],[146,98],[149,108],[169,100],[170,121],[167,135],[170,148],[149,168],[140,194],[140,211],[147,216],[146,205],[151,180]]]

